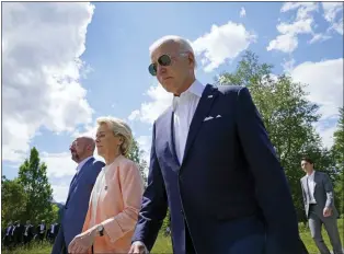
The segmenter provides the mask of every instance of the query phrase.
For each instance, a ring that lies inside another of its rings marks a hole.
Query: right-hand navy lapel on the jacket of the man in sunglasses
[[[207,84],[202,97],[199,100],[199,103],[197,105],[195,115],[191,122],[190,129],[188,129],[188,135],[186,139],[186,145],[185,145],[185,151],[184,151],[184,157],[183,157],[183,162],[185,161],[187,153],[190,149],[192,148],[192,145],[197,136],[197,132],[204,122],[204,118],[208,116],[211,105],[217,97],[217,89],[214,88],[210,84]],[[183,163],[182,163],[183,164]]]

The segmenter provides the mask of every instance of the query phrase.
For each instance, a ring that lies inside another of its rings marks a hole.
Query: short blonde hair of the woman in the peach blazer
[[[123,155],[128,155],[133,143],[133,134],[130,127],[122,119],[112,116],[102,116],[96,119],[98,125],[106,124],[115,136],[122,136],[123,142],[119,151]]]

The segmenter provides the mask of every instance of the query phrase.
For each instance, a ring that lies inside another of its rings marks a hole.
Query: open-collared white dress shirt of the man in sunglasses
[[[180,163],[182,163],[184,158],[190,125],[204,89],[205,85],[203,85],[198,80],[195,80],[185,92],[181,93],[180,96],[173,97],[174,146]]]

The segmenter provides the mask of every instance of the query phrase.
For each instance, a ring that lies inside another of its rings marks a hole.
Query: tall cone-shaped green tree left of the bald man
[[[27,219],[34,222],[55,218],[53,210],[53,188],[47,177],[47,166],[41,163],[36,148],[31,149],[30,159],[26,159],[19,170],[19,183],[23,186],[27,203],[25,206]]]

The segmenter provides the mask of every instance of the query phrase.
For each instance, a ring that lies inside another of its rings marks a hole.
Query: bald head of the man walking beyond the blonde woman
[[[95,141],[88,136],[78,137],[70,146],[71,159],[80,163],[88,157],[92,157],[95,150]]]

